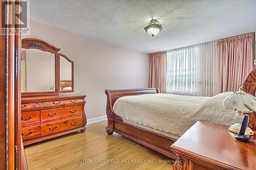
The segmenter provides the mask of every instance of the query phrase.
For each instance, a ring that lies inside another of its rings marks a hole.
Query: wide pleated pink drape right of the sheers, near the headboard
[[[237,91],[255,68],[254,40],[254,33],[218,40],[218,92]]]

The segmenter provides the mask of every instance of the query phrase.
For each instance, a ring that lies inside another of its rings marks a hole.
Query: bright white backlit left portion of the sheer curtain
[[[167,93],[198,95],[198,67],[196,46],[167,51]]]

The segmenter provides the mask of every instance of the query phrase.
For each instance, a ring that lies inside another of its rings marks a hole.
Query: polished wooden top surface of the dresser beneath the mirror
[[[46,102],[55,100],[69,100],[69,99],[84,99],[86,95],[83,94],[59,94],[59,95],[40,95],[40,96],[24,96],[22,97],[22,104],[31,102]]]

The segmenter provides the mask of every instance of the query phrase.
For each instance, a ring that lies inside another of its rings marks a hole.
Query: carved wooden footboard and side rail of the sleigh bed
[[[158,88],[105,90],[105,93],[107,96],[106,116],[108,117],[106,133],[112,135],[113,132],[116,132],[126,138],[144,145],[145,147],[155,150],[170,158],[176,159],[176,155],[170,149],[170,145],[175,142],[175,139],[124,123],[122,122],[122,118],[113,110],[116,100],[123,96],[159,93]]]

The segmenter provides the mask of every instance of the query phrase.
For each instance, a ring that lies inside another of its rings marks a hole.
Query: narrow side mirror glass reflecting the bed
[[[72,63],[60,56],[60,90],[72,90]]]

